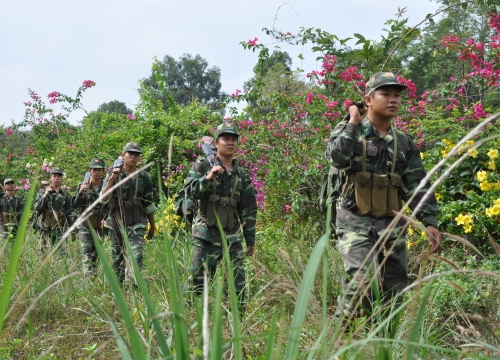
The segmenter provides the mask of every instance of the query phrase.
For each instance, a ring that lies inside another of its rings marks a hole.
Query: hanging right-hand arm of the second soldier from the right
[[[255,224],[257,222],[257,199],[252,181],[248,174],[241,180],[243,191],[241,201],[238,204],[238,214],[243,225],[243,236],[248,246],[255,246]]]

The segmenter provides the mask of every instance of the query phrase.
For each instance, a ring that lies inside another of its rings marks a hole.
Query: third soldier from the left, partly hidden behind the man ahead
[[[77,213],[82,213],[92,205],[102,191],[104,177],[104,161],[94,158],[89,165],[90,178],[78,185],[75,198],[73,199],[73,208]],[[104,205],[98,203],[92,209],[92,215],[84,223],[78,226],[78,237],[82,245],[82,265],[85,275],[97,274],[97,250],[89,228],[92,227],[96,234],[103,236],[102,221],[104,218]]]

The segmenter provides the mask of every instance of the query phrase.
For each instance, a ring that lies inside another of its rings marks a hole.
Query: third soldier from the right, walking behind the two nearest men
[[[117,182],[126,178],[137,170],[137,164],[141,160],[141,147],[135,142],[129,142],[123,148],[123,165],[114,167],[112,172],[104,180],[106,193]],[[109,215],[106,219],[106,227],[110,229],[111,256],[113,268],[120,282],[125,280],[125,243],[124,236],[130,241],[133,256],[139,268],[143,266],[144,234],[149,221],[148,239],[155,232],[153,203],[153,185],[151,177],[145,172],[128,179],[112,194],[103,197],[105,204],[109,203]],[[124,232],[125,233],[124,233]]]

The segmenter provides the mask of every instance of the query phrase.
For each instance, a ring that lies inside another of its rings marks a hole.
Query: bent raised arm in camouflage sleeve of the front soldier
[[[333,129],[326,147],[325,157],[331,166],[346,170],[354,154],[354,142],[358,124],[341,121]]]

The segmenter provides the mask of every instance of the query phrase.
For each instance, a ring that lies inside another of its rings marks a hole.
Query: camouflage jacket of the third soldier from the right
[[[110,174],[106,176],[103,182],[102,189],[106,188]],[[128,176],[125,170],[121,170],[120,178],[116,180],[115,184]],[[102,192],[102,190],[101,190]],[[153,203],[153,184],[151,181],[151,176],[144,171],[139,173],[135,179],[127,180],[118,189],[113,191],[113,194],[108,199],[108,201],[103,202],[104,204],[110,204],[110,213],[106,219],[106,227],[113,227],[112,212],[114,206],[119,206],[120,201],[129,201],[132,199],[140,200],[142,204],[141,210],[141,220],[132,226],[132,228],[146,227],[147,225],[147,215],[153,213],[156,210],[156,206]]]

